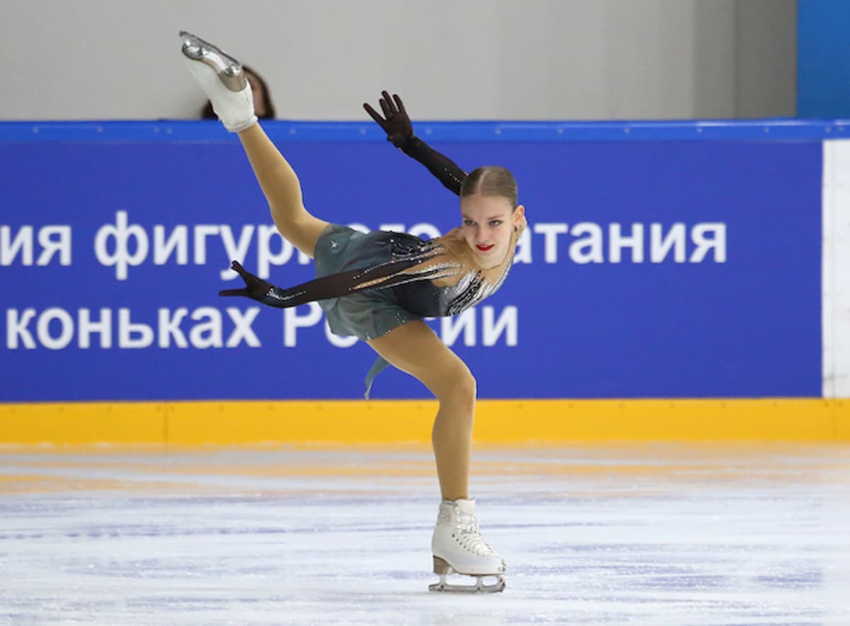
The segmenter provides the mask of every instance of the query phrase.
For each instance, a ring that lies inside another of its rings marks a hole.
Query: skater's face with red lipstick
[[[482,268],[496,268],[511,251],[513,229],[524,219],[524,208],[513,208],[501,195],[467,195],[461,199],[463,237]]]

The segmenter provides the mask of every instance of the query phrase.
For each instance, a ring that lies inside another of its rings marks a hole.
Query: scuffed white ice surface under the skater
[[[850,448],[473,464],[503,594],[428,592],[426,449],[0,448],[0,623],[850,624]]]

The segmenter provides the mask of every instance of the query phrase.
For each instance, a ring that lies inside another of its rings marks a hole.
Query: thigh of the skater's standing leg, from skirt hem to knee
[[[421,320],[413,320],[369,341],[372,349],[394,367],[410,374],[434,395],[473,381],[462,359]]]

